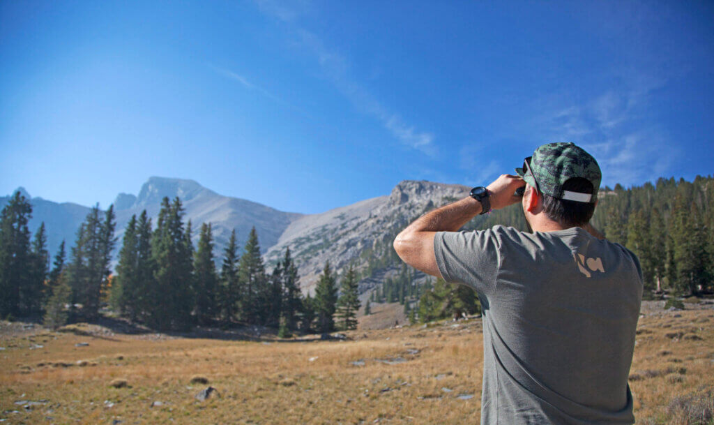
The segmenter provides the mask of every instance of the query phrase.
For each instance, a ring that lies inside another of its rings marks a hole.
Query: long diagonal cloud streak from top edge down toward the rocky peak
[[[370,90],[358,79],[350,75],[350,61],[347,56],[329,48],[318,36],[297,24],[297,18],[308,9],[306,2],[299,4],[301,11],[296,11],[276,0],[255,0],[264,14],[273,16],[286,24],[296,39],[296,47],[313,56],[324,76],[333,87],[346,97],[358,111],[372,116],[381,126],[404,146],[435,156],[438,152],[434,144],[435,136],[428,131],[421,131],[407,124],[401,114],[389,111]]]

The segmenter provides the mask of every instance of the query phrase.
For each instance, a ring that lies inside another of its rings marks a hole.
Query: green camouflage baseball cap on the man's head
[[[595,203],[600,188],[600,166],[592,155],[574,143],[549,143],[535,149],[533,156],[523,161],[523,168],[516,169],[527,184],[540,193],[555,199]],[[565,181],[582,177],[593,184],[592,194],[583,194],[563,189]]]

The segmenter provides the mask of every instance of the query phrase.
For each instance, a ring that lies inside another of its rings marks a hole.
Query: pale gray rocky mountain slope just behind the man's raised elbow
[[[290,247],[304,292],[311,292],[326,261],[339,274],[348,264],[365,269],[374,255],[391,249],[401,229],[438,206],[468,195],[467,186],[401,181],[388,196],[302,216],[283,232],[263,257],[275,264]]]

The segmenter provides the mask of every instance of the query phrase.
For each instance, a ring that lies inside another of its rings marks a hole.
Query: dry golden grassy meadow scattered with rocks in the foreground
[[[630,374],[638,424],[695,424],[688,416],[710,414],[713,324],[714,310],[694,304],[645,311]],[[113,334],[94,325],[50,332],[2,322],[0,419],[478,424],[480,319],[346,335],[347,341],[249,342]],[[198,401],[207,386],[218,395]]]

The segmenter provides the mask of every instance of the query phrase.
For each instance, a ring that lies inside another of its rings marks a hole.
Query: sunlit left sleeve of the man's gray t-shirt
[[[500,264],[500,243],[491,229],[437,232],[434,254],[446,281],[466,284],[481,294],[493,293]]]

